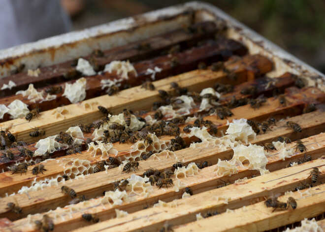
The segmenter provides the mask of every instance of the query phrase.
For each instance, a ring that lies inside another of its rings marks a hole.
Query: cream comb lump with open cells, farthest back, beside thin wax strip
[[[120,75],[123,79],[129,79],[129,73],[133,73],[137,76],[136,70],[130,61],[112,61],[111,63],[105,65],[104,72],[112,73],[116,71],[117,75]]]

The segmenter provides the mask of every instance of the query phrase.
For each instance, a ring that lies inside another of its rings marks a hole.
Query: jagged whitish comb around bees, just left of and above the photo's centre
[[[118,123],[121,125],[124,125],[125,127],[128,127],[124,121],[124,116],[123,113],[120,113],[119,115],[108,115],[110,117],[110,121],[108,123],[104,123],[102,127],[99,129],[95,129],[93,136],[94,139],[93,141],[100,140],[102,136],[104,136],[104,131],[108,130],[110,132],[110,136],[114,136],[113,130],[109,129],[108,127],[114,123]],[[133,132],[141,129],[145,123],[139,121],[133,114],[131,114],[131,124],[129,129],[132,130]]]

